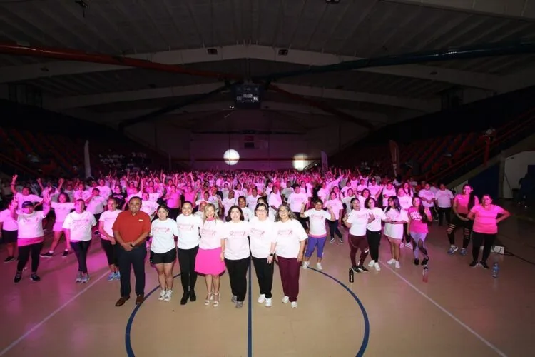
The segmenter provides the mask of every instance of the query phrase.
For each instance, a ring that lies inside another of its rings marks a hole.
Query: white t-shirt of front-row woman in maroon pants
[[[297,258],[300,243],[308,238],[307,232],[297,219],[275,222],[273,232],[277,241],[277,256],[282,258]]]

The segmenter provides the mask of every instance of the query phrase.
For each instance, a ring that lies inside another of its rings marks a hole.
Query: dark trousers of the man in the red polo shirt
[[[130,271],[133,268],[136,276],[136,295],[145,295],[145,257],[147,250],[145,243],[125,251],[122,246],[116,244],[117,261],[119,263],[119,273],[121,273],[121,296],[130,296],[132,288],[130,286]]]

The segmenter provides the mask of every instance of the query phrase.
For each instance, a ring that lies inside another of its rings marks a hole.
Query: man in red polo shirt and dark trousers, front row
[[[123,306],[130,298],[130,271],[136,276],[136,305],[145,300],[145,241],[151,232],[151,217],[139,210],[141,198],[132,197],[128,201],[128,211],[119,213],[113,223],[113,238],[117,241],[116,251],[121,273],[121,298],[115,306]]]

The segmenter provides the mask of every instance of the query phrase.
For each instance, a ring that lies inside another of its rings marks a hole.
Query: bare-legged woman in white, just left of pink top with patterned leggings
[[[384,215],[387,216],[387,221],[384,223],[384,235],[387,236],[390,243],[390,253],[392,258],[387,261],[390,265],[399,269],[399,244],[403,240],[404,228],[403,225],[409,221],[407,211],[399,205],[397,196],[390,196],[388,198],[388,206],[384,208]]]

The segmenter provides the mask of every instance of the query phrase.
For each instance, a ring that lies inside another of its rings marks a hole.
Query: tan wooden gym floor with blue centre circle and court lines
[[[509,251],[535,261],[535,223],[512,216],[499,238]],[[346,233],[346,231],[343,231]],[[458,232],[457,241],[462,238]],[[47,243],[50,243],[48,240]],[[76,257],[41,258],[39,283],[13,283],[16,263],[0,266],[0,356],[529,356],[534,348],[535,266],[514,256],[492,255],[499,278],[470,256],[448,256],[444,227],[432,227],[429,282],[422,267],[402,250],[401,269],[355,273],[347,243],[327,243],[324,271],[301,271],[299,307],[283,304],[275,268],[273,306],[256,302],[258,283],[249,273],[241,310],[230,303],[228,276],[221,280],[218,308],[205,306],[204,278],[198,301],[180,306],[175,278],[173,300],[158,301],[156,272],[147,263],[146,302],[114,306],[118,281],[106,281],[106,258],[98,240],[88,258],[91,281],[74,283]],[[3,260],[5,251],[0,253]],[[370,258],[368,257],[367,260]],[[315,257],[312,257],[314,266]],[[178,264],[175,275],[180,273]],[[253,278],[251,279],[251,276]],[[251,293],[252,292],[252,293]]]

